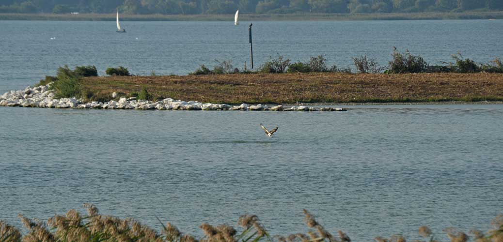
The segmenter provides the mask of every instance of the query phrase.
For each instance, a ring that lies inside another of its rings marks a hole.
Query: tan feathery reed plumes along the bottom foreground
[[[17,241],[338,241],[350,242],[351,238],[339,230],[337,235],[331,234],[307,210],[303,210],[304,222],[308,227],[307,233],[292,233],[287,236],[271,236],[266,228],[259,222],[256,215],[240,216],[237,224],[242,232],[227,224],[217,226],[203,223],[200,228],[204,236],[196,239],[190,234],[182,233],[170,222],[162,224],[160,231],[156,231],[141,224],[133,218],[121,219],[114,216],[101,215],[93,204],[85,204],[87,215],[83,216],[76,210],[69,210],[65,215],[55,215],[42,222],[19,215],[28,233],[22,234],[4,221],[0,221],[0,242]],[[503,215],[496,216],[491,222],[494,229],[487,234],[480,230],[472,229],[469,234],[476,242],[501,242],[503,241]],[[465,242],[470,239],[463,231],[456,228],[443,230],[451,242]],[[432,230],[421,226],[418,234],[426,241],[438,241]],[[395,234],[389,238],[375,237],[377,242],[405,242],[406,239]],[[416,240],[421,241],[421,240]]]

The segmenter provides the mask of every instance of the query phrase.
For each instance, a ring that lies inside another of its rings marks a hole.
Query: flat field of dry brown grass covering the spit
[[[143,87],[154,99],[171,97],[213,103],[501,101],[503,74],[222,74],[86,77],[92,100],[113,92],[131,96]]]

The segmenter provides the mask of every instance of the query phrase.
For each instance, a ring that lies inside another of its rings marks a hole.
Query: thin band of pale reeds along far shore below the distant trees
[[[0,14],[0,20],[115,21],[115,14]],[[233,15],[121,15],[123,21],[232,21]],[[240,21],[476,20],[503,19],[497,12],[379,14],[242,14]]]

